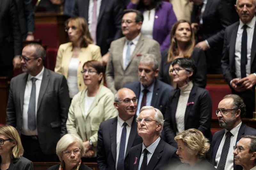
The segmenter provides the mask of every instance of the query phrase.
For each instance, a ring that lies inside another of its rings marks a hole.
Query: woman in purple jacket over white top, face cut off
[[[131,0],[127,9],[137,9],[143,13],[141,33],[156,40],[161,52],[170,47],[170,32],[177,21],[172,4],[163,0]]]

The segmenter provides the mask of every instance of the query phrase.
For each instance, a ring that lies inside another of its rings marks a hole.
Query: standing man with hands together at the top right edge
[[[239,21],[225,30],[221,67],[232,93],[238,94],[246,105],[246,117],[255,108],[256,85],[256,0],[237,0]]]

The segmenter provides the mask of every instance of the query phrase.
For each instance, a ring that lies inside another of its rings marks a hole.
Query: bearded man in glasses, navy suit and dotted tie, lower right
[[[244,101],[236,94],[228,94],[220,101],[216,114],[219,118],[220,127],[224,129],[214,133],[212,137],[211,163],[215,168],[243,169],[242,166],[238,166],[234,162],[233,146],[236,145],[242,135],[256,135],[256,129],[242,123],[245,112]],[[228,152],[226,156],[224,156],[224,151]]]

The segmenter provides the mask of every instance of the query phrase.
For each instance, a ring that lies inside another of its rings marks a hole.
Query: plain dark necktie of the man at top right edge
[[[243,26],[244,31],[242,34],[242,44],[241,44],[241,78],[246,77],[246,64],[247,64],[247,25]]]

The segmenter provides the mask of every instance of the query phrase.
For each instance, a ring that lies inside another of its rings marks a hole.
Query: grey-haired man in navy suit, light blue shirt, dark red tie
[[[174,90],[174,88],[171,85],[158,80],[156,78],[158,73],[159,69],[156,56],[153,54],[144,54],[141,56],[138,66],[140,81],[124,85],[124,87],[131,89],[138,97],[138,109],[136,115],[139,115],[140,108],[143,106],[153,106],[159,109],[163,114],[165,113],[169,93]],[[145,89],[147,92],[145,92]]]

